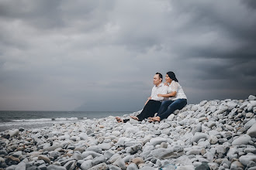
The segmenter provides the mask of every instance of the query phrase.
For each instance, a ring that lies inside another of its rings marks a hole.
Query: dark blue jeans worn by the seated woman
[[[175,110],[181,110],[186,104],[186,99],[164,100],[157,112],[157,116],[159,116],[161,120],[165,119]]]

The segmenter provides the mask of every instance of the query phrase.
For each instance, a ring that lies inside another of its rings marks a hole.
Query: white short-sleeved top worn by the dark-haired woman
[[[168,93],[171,93],[174,91],[176,91],[175,97],[169,97],[168,100],[187,99],[182,89],[182,86],[178,82],[175,82],[175,80],[172,80],[171,84],[168,87]]]

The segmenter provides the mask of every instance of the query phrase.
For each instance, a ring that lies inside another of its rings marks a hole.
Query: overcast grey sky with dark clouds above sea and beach
[[[256,94],[254,0],[0,0],[0,110],[137,111],[154,73],[189,104]]]

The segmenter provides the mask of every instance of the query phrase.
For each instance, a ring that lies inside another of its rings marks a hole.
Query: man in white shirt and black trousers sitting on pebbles
[[[168,87],[164,86],[162,83],[163,76],[161,73],[156,73],[153,78],[154,87],[152,88],[150,97],[147,98],[144,109],[141,113],[136,116],[130,116],[137,121],[143,121],[147,117],[154,117],[154,114],[158,111],[161,106],[161,101],[164,97],[157,97],[158,93],[166,94],[168,92]],[[124,122],[130,121],[130,119],[122,120],[120,117],[116,117],[116,121]]]

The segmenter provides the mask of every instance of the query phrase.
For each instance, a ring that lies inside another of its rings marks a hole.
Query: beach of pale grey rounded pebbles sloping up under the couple
[[[256,170],[256,97],[202,100],[154,123],[109,116],[1,131],[0,169]]]

